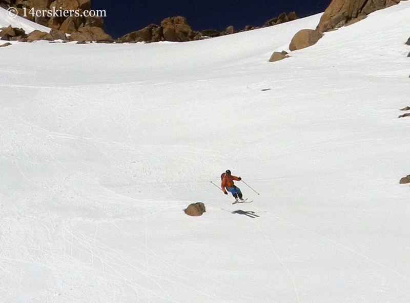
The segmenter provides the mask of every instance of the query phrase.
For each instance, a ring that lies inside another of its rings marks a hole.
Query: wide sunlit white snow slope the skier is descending
[[[409,17],[1,49],[0,301],[410,302]]]

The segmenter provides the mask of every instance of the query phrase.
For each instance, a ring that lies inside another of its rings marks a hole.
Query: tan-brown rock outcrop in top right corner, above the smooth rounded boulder
[[[316,29],[320,32],[329,31],[399,2],[400,0],[333,0],[324,11]]]

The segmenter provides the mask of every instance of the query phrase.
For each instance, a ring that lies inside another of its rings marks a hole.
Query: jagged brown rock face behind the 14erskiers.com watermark
[[[55,8],[56,11],[60,10],[60,7],[63,10],[72,10],[78,11],[79,14],[82,14],[84,10],[91,10],[91,0],[0,0],[0,6],[3,8],[14,7],[17,9],[18,14],[20,16],[24,16],[24,8],[27,12],[31,9],[34,11],[38,10],[50,10],[52,11]],[[76,32],[83,32],[84,28],[93,28],[92,30],[87,30],[92,32],[92,35],[89,35],[88,38],[97,36],[99,41],[103,39],[104,41],[113,41],[111,37],[107,37],[106,33],[103,30],[104,21],[103,17],[95,16],[95,17],[84,17],[84,16],[33,16],[32,14],[27,13],[27,18],[30,21],[35,23],[48,26],[55,30],[60,30],[65,33],[76,33]],[[95,29],[94,29],[95,28]],[[99,28],[99,29],[96,29]],[[101,31],[104,32],[101,33]],[[98,32],[98,33],[97,33]],[[104,35],[104,38],[101,36]],[[63,35],[59,34],[58,39],[62,39]],[[86,40],[90,41],[90,40]],[[97,40],[91,40],[97,41]]]

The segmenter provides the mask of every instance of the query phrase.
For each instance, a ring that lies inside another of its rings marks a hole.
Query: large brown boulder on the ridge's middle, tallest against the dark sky
[[[186,17],[166,18],[162,20],[161,27],[167,41],[190,41],[195,35]]]

